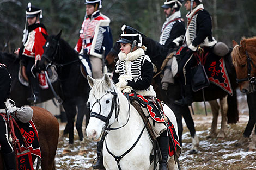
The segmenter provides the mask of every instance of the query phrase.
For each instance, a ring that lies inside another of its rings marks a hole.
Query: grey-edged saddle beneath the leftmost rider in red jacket
[[[54,82],[56,82],[58,80],[58,74],[57,74],[57,72],[56,72],[54,67],[55,66],[52,65],[51,67],[49,67],[47,69],[47,73],[48,73],[48,76],[50,78],[51,83],[54,83]],[[21,64],[20,64],[20,68],[19,68],[18,78],[19,78],[19,81],[20,81],[21,84],[23,84],[23,85],[25,85],[27,87],[29,86],[28,76],[26,74],[26,67],[21,65]],[[46,80],[42,80],[42,81],[39,80],[40,87],[42,89],[46,89],[48,87],[48,86],[45,86],[46,82],[44,82],[44,81],[46,81]]]

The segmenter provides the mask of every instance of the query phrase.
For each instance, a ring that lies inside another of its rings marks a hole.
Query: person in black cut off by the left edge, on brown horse
[[[5,101],[9,98],[10,89],[11,89],[11,77],[10,74],[5,67],[5,65],[0,64],[0,109],[5,109]],[[3,112],[3,111],[1,111]],[[4,111],[5,112],[5,111]],[[4,157],[4,163],[7,170],[15,170],[16,169],[16,158],[15,152],[11,142],[9,141],[8,135],[8,127],[5,119],[0,116],[0,145],[1,145],[1,153]]]

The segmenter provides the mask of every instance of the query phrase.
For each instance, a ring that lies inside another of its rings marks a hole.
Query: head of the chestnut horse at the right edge
[[[256,38],[242,39],[240,45],[233,40],[231,57],[236,70],[237,83],[243,93],[255,91],[256,85]]]

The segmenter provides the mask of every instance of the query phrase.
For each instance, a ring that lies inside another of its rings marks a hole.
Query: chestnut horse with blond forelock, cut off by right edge
[[[237,83],[239,83],[240,91],[246,93],[249,107],[249,121],[243,136],[237,143],[240,146],[249,141],[249,136],[256,124],[256,37],[243,38],[240,41],[240,46],[233,40],[233,47],[231,56],[236,70]],[[256,127],[248,150],[256,150]]]

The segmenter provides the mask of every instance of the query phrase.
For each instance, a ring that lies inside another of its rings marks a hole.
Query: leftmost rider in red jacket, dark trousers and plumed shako
[[[31,104],[40,102],[39,81],[35,73],[39,72],[36,70],[38,69],[37,64],[44,53],[42,48],[46,42],[44,35],[48,35],[44,24],[40,23],[40,18],[42,18],[42,9],[33,7],[29,2],[26,8],[26,24],[28,23],[28,29],[26,29],[25,24],[22,40],[23,46],[19,50],[19,58],[22,61],[22,65],[26,67],[26,74],[31,86],[32,94],[27,99]]]

